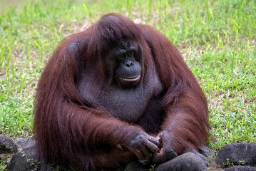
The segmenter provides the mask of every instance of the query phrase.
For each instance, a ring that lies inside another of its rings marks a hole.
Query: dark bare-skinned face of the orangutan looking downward
[[[116,81],[121,87],[138,85],[142,78],[142,63],[143,53],[138,42],[118,42],[106,56],[108,83]]]

